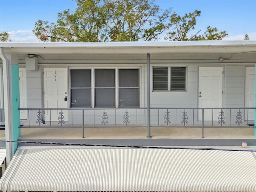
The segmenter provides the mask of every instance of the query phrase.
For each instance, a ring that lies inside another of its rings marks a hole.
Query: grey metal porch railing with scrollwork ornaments
[[[151,127],[252,127],[256,108],[150,108]],[[20,128],[147,127],[147,108],[20,108]]]

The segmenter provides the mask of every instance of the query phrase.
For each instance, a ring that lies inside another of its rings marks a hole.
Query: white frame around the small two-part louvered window
[[[154,89],[154,68],[168,68],[168,87],[166,90]],[[184,90],[171,90],[171,68],[185,68],[185,89]],[[188,67],[187,66],[152,66],[152,92],[187,92],[188,88]]]

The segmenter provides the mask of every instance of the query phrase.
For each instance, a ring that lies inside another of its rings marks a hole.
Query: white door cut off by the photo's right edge
[[[255,97],[255,67],[245,68],[245,107],[254,107]],[[248,118],[247,118],[248,117]],[[254,120],[254,109],[245,111],[246,120]]]

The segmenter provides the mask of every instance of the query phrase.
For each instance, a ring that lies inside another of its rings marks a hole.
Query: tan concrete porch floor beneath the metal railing
[[[82,128],[20,128],[19,139],[49,139],[49,140],[95,140],[95,139],[145,139],[146,127],[102,127],[85,128],[82,138]],[[248,128],[174,128],[152,127],[152,139],[256,139],[254,127]]]

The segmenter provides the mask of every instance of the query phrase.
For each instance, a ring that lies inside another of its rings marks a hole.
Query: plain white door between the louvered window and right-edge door
[[[222,67],[199,67],[198,107],[222,107]],[[220,110],[204,110],[204,120],[218,120]],[[202,110],[198,112],[202,120]]]

